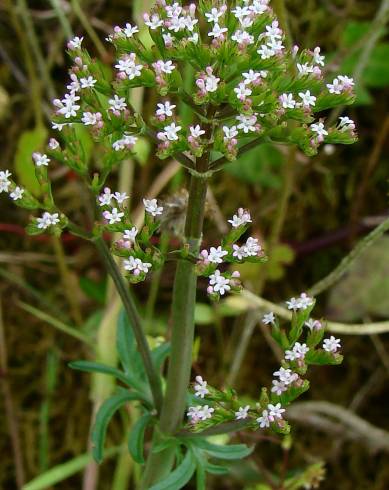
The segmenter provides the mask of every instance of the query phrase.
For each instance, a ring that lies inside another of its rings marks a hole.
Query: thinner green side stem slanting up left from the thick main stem
[[[107,247],[106,243],[104,242],[103,238],[98,237],[93,240],[97,250],[101,254],[101,257],[104,261],[105,267],[111,276],[117,292],[119,293],[122,301],[123,301],[123,306],[124,309],[126,310],[126,313],[128,315],[128,318],[130,320],[130,323],[132,325],[132,328],[134,330],[134,335],[136,338],[136,342],[138,344],[138,349],[140,352],[140,355],[142,356],[143,359],[143,364],[144,368],[150,383],[150,388],[151,392],[153,395],[155,407],[157,411],[159,412],[161,410],[162,406],[162,388],[161,388],[161,380],[158,375],[158,372],[156,371],[153,361],[151,359],[151,353],[150,353],[150,348],[147,343],[146,336],[143,332],[142,328],[142,322],[140,319],[140,316],[138,314],[136,305],[134,303],[133,298],[131,297],[128,287],[126,286],[123,277],[120,273],[120,270],[114,261],[109,248]]]

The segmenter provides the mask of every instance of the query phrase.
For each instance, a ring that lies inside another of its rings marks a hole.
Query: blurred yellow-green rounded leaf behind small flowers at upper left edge
[[[41,187],[35,176],[32,154],[46,143],[47,129],[38,126],[21,134],[15,154],[15,172],[19,183],[36,197],[41,195]]]

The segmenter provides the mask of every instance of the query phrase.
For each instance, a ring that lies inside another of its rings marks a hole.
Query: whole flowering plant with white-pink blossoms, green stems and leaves
[[[18,186],[8,170],[0,173],[0,191],[18,206],[42,211],[31,218],[30,234],[59,236],[68,229],[93,242],[122,298],[117,349],[123,369],[86,361],[72,364],[75,369],[112,374],[125,385],[97,414],[92,436],[96,460],[103,457],[109,418],[120,406],[136,400],[143,415],[129,447],[139,463],[144,462],[145,429],[153,427],[142,488],[182,488],[194,472],[198,488],[205,488],[207,472],[227,471],[212,460],[240,459],[252,451],[242,444],[215,445],[208,435],[238,429],[288,433],[286,407],[309,388],[305,379],[309,365],[342,360],[339,340],[331,337],[323,342],[325,325],[310,318],[314,300],[303,293],[287,302],[293,312],[290,328],[280,325],[271,312],[263,318],[284,358],[274,372],[272,387],[261,390],[256,404],[247,405],[232,388],[209,386],[201,376],[188,392],[197,277],[208,278],[207,292],[217,301],[241,289],[239,272],[223,264],[266,261],[257,238],[242,239],[252,221],[243,208],[229,220],[231,229],[221,244],[202,250],[207,182],[227,162],[263,142],[297,145],[308,156],[315,155],[323,143],[353,143],[356,134],[351,119],[340,117],[337,124],[327,125],[324,118],[326,110],[353,102],[353,80],[338,76],[326,83],[320,48],[291,46],[269,0],[203,0],[197,6],[158,0],[144,15],[144,23],[153,42],[150,49],[138,36],[136,25],[117,26],[107,38],[117,55],[113,79],[83,48],[83,38],[69,41],[68,92],[54,100],[53,129],[59,137],[50,139],[45,153],[32,155],[40,197]],[[183,88],[186,66],[195,73],[190,91]],[[135,87],[153,89],[160,96],[149,120],[131,105]],[[176,112],[178,100],[195,115],[188,127]],[[78,136],[81,125],[100,149],[95,165]],[[156,145],[160,159],[176,159],[190,177],[181,246],[168,253],[152,240],[160,229],[163,203],[143,200],[144,225],[138,229],[129,211],[129,196],[107,185],[108,177],[136,153],[144,137]],[[72,169],[93,196],[92,226],[76,224],[58,208],[49,172],[54,162]],[[106,245],[107,233],[119,235],[111,248]],[[124,274],[114,256],[123,259]],[[177,260],[171,342],[151,350],[125,279],[143,281],[169,257]]]

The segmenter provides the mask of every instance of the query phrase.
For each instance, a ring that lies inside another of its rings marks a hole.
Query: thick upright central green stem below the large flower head
[[[191,254],[198,255],[203,230],[207,180],[201,176],[208,170],[209,154],[197,161],[198,174],[191,176],[188,209],[185,222],[185,241]],[[162,406],[159,429],[164,435],[175,434],[182,424],[186,406],[186,394],[192,367],[194,339],[194,307],[196,303],[197,277],[195,265],[178,261],[173,288],[171,355],[167,375],[167,387]],[[157,436],[155,435],[155,439]],[[166,476],[174,462],[175,448],[149,454],[142,488],[148,489]]]

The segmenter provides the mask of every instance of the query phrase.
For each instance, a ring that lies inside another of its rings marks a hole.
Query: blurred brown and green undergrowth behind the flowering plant
[[[112,25],[139,20],[148,2],[0,2],[2,169],[13,166],[20,181],[34,189],[31,154],[51,134],[50,101],[67,81],[66,39],[85,35],[90,51],[110,69],[113,53],[104,38]],[[273,4],[282,7],[280,1]],[[243,282],[274,303],[325,277],[388,213],[389,2],[290,0],[286,8],[294,42],[321,46],[329,77],[339,72],[356,79],[357,104],[347,115],[356,121],[360,140],[348,147],[326,146],[313,159],[264,145],[213,181],[205,245],[218,242],[225,218],[239,206],[250,209],[270,262],[265,270],[261,265],[242,267]],[[133,97],[145,114],[153,111],[155,94],[136,91]],[[182,117],[191,117],[184,107]],[[94,158],[91,142],[83,133],[80,138]],[[63,209],[81,212],[83,192],[73,174],[58,167],[52,180]],[[182,218],[184,172],[176,162],[159,161],[144,141],[137,159],[123,164],[118,180],[131,194],[138,219],[143,196],[159,194],[170,203],[166,232],[160,237],[167,245],[168,230]],[[112,382],[67,367],[72,360],[96,356],[115,363],[118,302],[87,243],[67,234],[61,240],[27,237],[26,221],[25,212],[2,196],[0,488],[21,488],[42,474],[26,490],[54,488],[56,481],[58,489],[134,488],[140,468],[123,444],[136,410],[115,419],[108,435],[112,457],[98,469],[86,455],[91,413],[112,390]],[[387,236],[376,240],[346,276],[318,295],[323,316],[358,324],[388,319],[388,245]],[[154,342],[169,325],[173,271],[167,265],[162,275],[154,274],[136,289]],[[195,371],[214,385],[233,383],[255,399],[259,386],[269,384],[278,355],[258,322],[261,309],[249,310],[253,304],[244,297],[210,305],[202,286]],[[306,401],[316,403],[300,404],[291,412],[291,438],[283,445],[256,435],[244,439],[258,443],[254,457],[233,467],[228,478],[210,482],[210,488],[261,489],[263,481],[271,487],[274,475],[282,481],[307,467],[315,474],[325,468],[323,489],[389,488],[388,336],[344,335],[342,342],[341,367],[312,370]],[[317,403],[322,400],[330,405]],[[382,430],[374,432],[365,422]],[[56,469],[56,477],[47,473],[61,464],[65,466]]]

